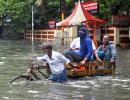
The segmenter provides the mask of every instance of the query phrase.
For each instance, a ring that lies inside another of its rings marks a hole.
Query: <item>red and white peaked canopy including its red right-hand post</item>
[[[81,23],[85,22],[86,26],[93,26],[93,40],[95,45],[97,45],[96,40],[96,28],[99,25],[105,24],[106,21],[96,18],[95,16],[88,13],[84,8],[80,0],[78,4],[75,5],[74,10],[70,14],[69,17],[62,20],[61,22],[56,23],[56,26],[72,26],[72,25],[81,25]]]

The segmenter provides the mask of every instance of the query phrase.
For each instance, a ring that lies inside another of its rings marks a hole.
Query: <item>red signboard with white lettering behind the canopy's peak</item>
[[[98,3],[97,2],[92,2],[92,1],[83,2],[82,5],[83,5],[83,8],[91,14],[95,14],[98,12]]]

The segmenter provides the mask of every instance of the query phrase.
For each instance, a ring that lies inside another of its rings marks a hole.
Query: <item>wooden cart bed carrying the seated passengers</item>
[[[89,62],[85,65],[73,63],[75,68],[65,65],[69,78],[95,76],[95,75],[112,75],[115,72],[115,64],[110,62]]]

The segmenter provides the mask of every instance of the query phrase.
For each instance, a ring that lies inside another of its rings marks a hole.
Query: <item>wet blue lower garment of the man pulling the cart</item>
[[[52,74],[49,77],[49,80],[51,80],[53,82],[65,82],[65,81],[67,81],[67,72],[66,72],[66,70],[64,69],[62,71],[62,73],[60,73],[60,74]]]

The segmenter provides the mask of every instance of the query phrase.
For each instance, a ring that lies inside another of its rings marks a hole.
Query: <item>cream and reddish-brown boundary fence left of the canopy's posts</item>
[[[34,30],[34,40],[39,40],[41,42],[51,42],[55,45],[65,45],[69,46],[71,41],[75,37],[64,36],[64,44],[62,44],[61,30]],[[32,31],[26,30],[25,39],[31,40]]]

